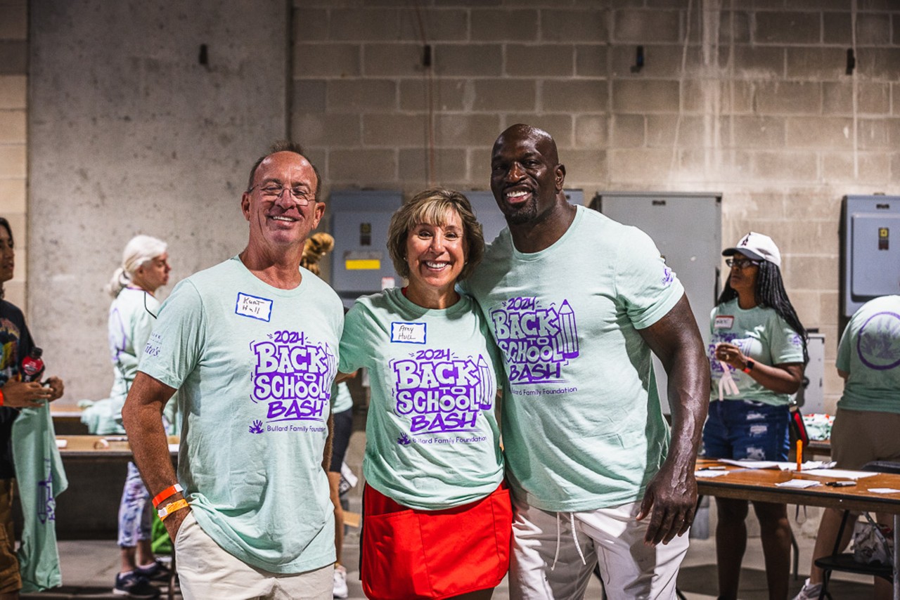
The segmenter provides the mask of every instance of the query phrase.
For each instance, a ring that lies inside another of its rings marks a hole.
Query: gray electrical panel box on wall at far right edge
[[[900,293],[900,196],[844,196],[841,305],[849,318],[879,296]]]

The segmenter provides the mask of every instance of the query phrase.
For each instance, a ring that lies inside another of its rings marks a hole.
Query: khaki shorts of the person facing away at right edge
[[[832,427],[832,458],[841,469],[870,461],[900,461],[900,414],[838,408]]]

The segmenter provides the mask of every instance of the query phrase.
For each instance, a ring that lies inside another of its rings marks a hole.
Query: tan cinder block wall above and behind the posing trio
[[[726,243],[751,229],[779,243],[801,319],[826,336],[833,407],[842,390],[833,368],[840,201],[900,193],[896,2],[294,8],[292,133],[332,189],[487,189],[493,140],[524,121],[554,135],[567,184],[585,198],[720,191]]]

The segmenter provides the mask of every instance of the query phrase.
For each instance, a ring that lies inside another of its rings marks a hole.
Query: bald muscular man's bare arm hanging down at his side
[[[644,542],[655,545],[686,533],[694,521],[694,465],[709,407],[709,365],[687,296],[640,333],[669,377],[672,416],[669,456],[647,485],[638,515],[644,519],[652,510]]]

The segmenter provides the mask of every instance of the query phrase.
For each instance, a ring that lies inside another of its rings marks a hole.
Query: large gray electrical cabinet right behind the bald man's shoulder
[[[709,311],[721,291],[722,194],[603,192],[594,197],[590,208],[634,225],[653,238],[684,285],[700,335],[708,345]],[[668,414],[668,378],[655,356],[653,365],[662,410]]]

